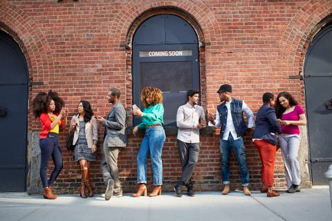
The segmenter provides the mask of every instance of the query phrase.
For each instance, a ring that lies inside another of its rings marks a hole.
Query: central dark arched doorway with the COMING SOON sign
[[[140,90],[163,90],[165,126],[176,126],[178,106],[190,88],[199,89],[199,43],[190,23],[176,15],[156,15],[144,21],[133,37],[133,104],[140,104]],[[133,125],[140,118],[133,117]]]

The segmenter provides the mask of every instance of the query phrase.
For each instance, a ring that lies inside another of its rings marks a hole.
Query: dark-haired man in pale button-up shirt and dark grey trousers
[[[199,90],[187,91],[187,104],[180,106],[176,114],[178,126],[178,154],[182,166],[182,175],[174,191],[182,197],[181,189],[187,186],[187,194],[194,196],[192,172],[199,160],[199,130],[206,126],[204,109],[199,104]]]

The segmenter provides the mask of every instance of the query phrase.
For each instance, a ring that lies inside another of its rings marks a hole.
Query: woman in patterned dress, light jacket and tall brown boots
[[[69,132],[74,131],[73,160],[80,162],[82,172],[80,196],[86,198],[85,187],[89,191],[89,197],[93,196],[93,188],[90,183],[89,167],[90,162],[97,160],[97,144],[98,144],[98,125],[91,104],[84,100],[78,104],[78,114],[71,119],[71,127]]]

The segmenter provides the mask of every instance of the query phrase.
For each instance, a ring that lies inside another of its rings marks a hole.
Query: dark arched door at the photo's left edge
[[[17,42],[0,30],[0,191],[26,191],[28,66]]]

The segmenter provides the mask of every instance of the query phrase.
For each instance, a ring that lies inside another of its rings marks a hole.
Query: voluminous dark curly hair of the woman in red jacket
[[[64,100],[61,99],[56,92],[48,90],[48,93],[39,92],[33,99],[33,115],[37,118],[40,117],[42,113],[48,113],[48,106],[52,100],[55,102],[55,111],[53,111],[53,113],[60,113],[64,106]]]

